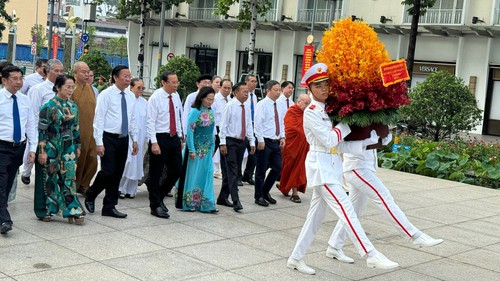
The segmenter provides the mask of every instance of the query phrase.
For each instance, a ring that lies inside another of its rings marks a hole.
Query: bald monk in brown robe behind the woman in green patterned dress
[[[96,97],[92,86],[87,83],[89,72],[86,63],[75,63],[76,88],[71,98],[80,111],[81,154],[76,168],[76,187],[81,194],[85,194],[97,171],[97,150],[93,135]]]

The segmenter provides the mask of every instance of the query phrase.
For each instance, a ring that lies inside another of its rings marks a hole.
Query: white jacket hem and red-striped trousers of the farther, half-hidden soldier
[[[396,205],[387,187],[375,175],[376,169],[376,149],[363,150],[359,154],[344,154],[344,177],[352,186],[349,198],[356,214],[361,216],[368,199],[372,199],[403,237],[412,238],[419,230],[410,223],[403,211]],[[338,222],[328,244],[335,249],[341,249],[345,237],[346,230]]]

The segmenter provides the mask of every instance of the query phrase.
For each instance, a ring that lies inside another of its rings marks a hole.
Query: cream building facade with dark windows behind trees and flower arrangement
[[[166,12],[161,64],[168,57],[193,58],[202,73],[237,81],[248,64],[249,31],[237,31],[234,5],[228,16],[214,14],[216,0],[194,0]],[[316,3],[315,3],[316,2]],[[406,58],[411,16],[394,0],[272,0],[258,19],[255,70],[260,82],[292,80],[299,84],[306,37],[321,48],[332,19],[355,16],[379,34],[393,59]],[[312,22],[314,21],[314,25]],[[160,15],[145,21],[146,86],[157,75]],[[138,72],[139,19],[129,22],[129,65]],[[483,123],[473,133],[500,135],[500,0],[437,0],[420,20],[413,84],[437,70],[461,77],[483,110]],[[167,55],[168,54],[168,55]]]

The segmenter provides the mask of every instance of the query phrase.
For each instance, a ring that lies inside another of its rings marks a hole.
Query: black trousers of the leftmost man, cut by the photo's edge
[[[0,141],[0,224],[12,221],[8,207],[9,193],[19,166],[23,164],[26,142],[19,146]]]

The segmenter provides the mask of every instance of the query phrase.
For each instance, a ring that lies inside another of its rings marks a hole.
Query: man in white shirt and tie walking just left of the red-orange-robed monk
[[[255,168],[255,204],[267,207],[276,204],[269,191],[281,174],[281,149],[285,146],[285,125],[276,101],[280,95],[278,81],[269,80],[266,97],[255,108],[255,137],[257,166]],[[267,170],[271,171],[267,174]]]

